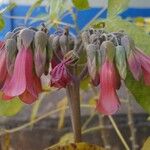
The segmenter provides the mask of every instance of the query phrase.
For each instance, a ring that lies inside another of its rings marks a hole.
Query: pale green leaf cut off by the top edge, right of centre
[[[108,0],[108,17],[114,17],[125,10],[130,0]]]

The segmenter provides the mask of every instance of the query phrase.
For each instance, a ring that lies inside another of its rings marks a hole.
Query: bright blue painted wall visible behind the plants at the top
[[[4,6],[0,6],[0,8],[2,8]],[[5,15],[7,16],[25,16],[25,14],[27,13],[29,9],[29,6],[17,6],[15,7],[13,10],[11,10],[10,12],[7,12]],[[89,10],[85,10],[85,11],[78,11],[77,12],[77,17],[78,17],[78,26],[80,29],[82,29],[86,23],[88,23],[92,17],[95,16],[95,14],[97,12],[100,11],[101,8],[91,8]],[[76,10],[75,10],[76,11]],[[39,7],[36,8],[32,14],[32,16],[36,16],[37,14],[40,13],[46,13],[46,9],[43,7]],[[3,39],[4,35],[6,34],[6,32],[13,30],[15,27],[20,26],[20,25],[25,25],[24,24],[24,20],[23,19],[9,19],[6,18],[4,15],[4,19],[6,22],[6,26],[5,28],[0,32],[0,39]],[[129,8],[128,10],[126,10],[124,13],[121,14],[121,16],[123,18],[127,18],[127,17],[150,17],[150,8]],[[106,17],[106,12],[104,12],[101,15],[102,18]],[[73,23],[71,16],[66,16],[65,18],[63,18],[63,21],[68,22],[68,23]],[[34,24],[34,26],[36,27],[37,25],[39,25],[40,22]],[[27,26],[30,26],[31,21],[27,22]],[[74,30],[72,30],[72,32],[75,32]]]

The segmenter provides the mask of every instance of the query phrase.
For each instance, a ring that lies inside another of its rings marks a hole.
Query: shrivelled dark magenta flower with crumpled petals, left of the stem
[[[54,69],[51,70],[50,75],[50,86],[56,88],[66,87],[72,80],[64,61],[56,65]]]

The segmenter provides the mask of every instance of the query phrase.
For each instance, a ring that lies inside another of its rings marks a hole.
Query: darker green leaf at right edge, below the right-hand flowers
[[[150,86],[145,86],[142,81],[136,81],[129,71],[125,83],[137,102],[150,113]]]

